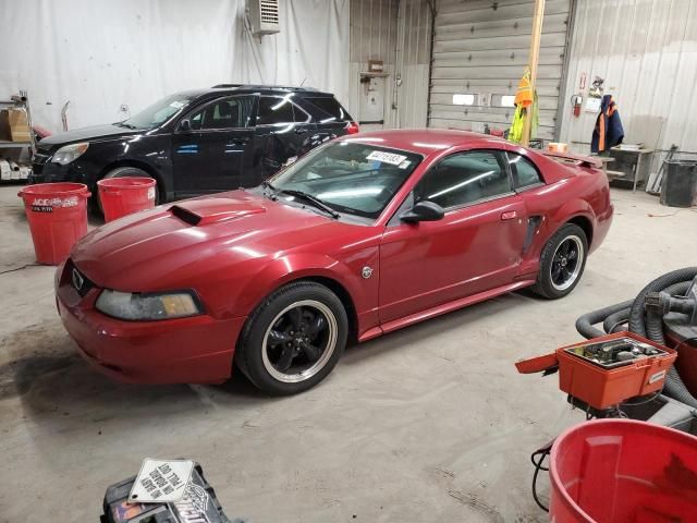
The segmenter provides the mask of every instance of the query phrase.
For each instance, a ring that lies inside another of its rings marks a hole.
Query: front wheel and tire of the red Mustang
[[[274,291],[247,320],[235,361],[259,389],[289,396],[307,390],[334,368],[348,320],[337,295],[299,281]]]

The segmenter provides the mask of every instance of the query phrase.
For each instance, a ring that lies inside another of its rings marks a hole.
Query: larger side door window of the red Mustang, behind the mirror
[[[511,193],[511,180],[500,153],[470,150],[443,158],[418,182],[416,202],[428,199],[444,209]]]

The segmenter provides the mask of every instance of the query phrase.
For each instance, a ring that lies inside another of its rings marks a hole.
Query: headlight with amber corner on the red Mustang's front
[[[140,294],[105,289],[95,306],[108,316],[140,321],[183,318],[203,313],[192,291]]]

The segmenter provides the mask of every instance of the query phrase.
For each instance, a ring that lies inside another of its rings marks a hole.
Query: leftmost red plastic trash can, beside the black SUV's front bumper
[[[39,183],[23,187],[17,196],[24,199],[36,260],[60,264],[87,233],[87,185]]]

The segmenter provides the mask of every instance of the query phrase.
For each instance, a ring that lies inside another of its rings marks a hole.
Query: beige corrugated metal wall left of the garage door
[[[347,109],[358,118],[360,73],[384,63],[384,127],[424,127],[428,108],[430,9],[427,0],[351,0]]]

